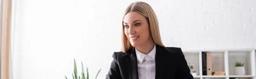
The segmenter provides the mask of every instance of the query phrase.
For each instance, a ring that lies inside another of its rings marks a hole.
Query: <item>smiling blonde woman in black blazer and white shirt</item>
[[[165,47],[156,14],[131,3],[122,18],[122,51],[113,53],[106,79],[193,79],[180,48]]]

